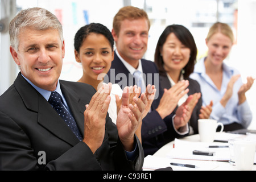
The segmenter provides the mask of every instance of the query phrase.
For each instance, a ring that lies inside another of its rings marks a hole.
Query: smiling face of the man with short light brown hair
[[[140,18],[123,20],[119,35],[112,31],[119,55],[131,65],[138,64],[147,51],[148,29],[146,18]]]

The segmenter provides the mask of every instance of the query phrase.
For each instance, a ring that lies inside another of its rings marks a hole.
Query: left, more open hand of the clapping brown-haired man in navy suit
[[[164,89],[163,97],[161,98],[160,104],[156,109],[162,119],[171,114],[177,106],[180,98],[188,93],[188,85],[189,82],[187,80],[182,80],[172,86],[170,89]]]

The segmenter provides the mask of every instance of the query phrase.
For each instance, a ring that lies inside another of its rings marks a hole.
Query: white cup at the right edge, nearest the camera
[[[255,147],[256,143],[252,141],[234,142],[234,161],[237,169],[249,171],[253,168]]]

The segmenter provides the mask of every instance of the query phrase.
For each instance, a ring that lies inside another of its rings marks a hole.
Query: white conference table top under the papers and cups
[[[221,144],[228,145],[228,140],[236,138],[245,138],[248,137],[246,135],[235,135],[235,134],[228,134],[225,132],[222,133],[216,133],[217,137],[216,140],[214,140],[213,144]],[[250,136],[253,137],[253,139],[256,140],[256,135]],[[224,140],[221,140],[224,139]],[[175,142],[188,142],[184,144],[200,144],[200,136],[199,134],[196,135],[189,135],[188,137],[175,139],[174,141],[167,143],[165,146],[160,148],[157,152],[155,152],[154,155],[146,156],[144,159],[144,166],[143,170],[155,170],[158,168],[166,168],[166,167],[172,167],[174,171],[193,171],[193,170],[199,170],[199,171],[237,171],[236,166],[234,166],[234,163],[230,163],[228,160],[225,161],[218,161],[218,160],[198,160],[198,159],[175,159],[170,158],[170,152],[175,149]],[[202,143],[202,142],[201,142]],[[229,153],[229,148],[226,149],[226,152]],[[229,155],[229,154],[228,154]],[[170,163],[182,163],[182,164],[195,164],[196,166],[201,166],[201,168],[189,168],[189,167],[177,167],[177,166],[171,166]],[[253,171],[256,171],[256,165],[253,165],[252,168]]]

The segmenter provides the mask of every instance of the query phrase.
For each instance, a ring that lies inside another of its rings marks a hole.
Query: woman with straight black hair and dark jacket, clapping
[[[155,64],[159,69],[159,80],[162,89],[169,89],[181,80],[189,81],[189,92],[177,101],[180,106],[193,95],[193,99],[198,100],[195,105],[191,105],[190,134],[198,133],[197,120],[209,118],[212,111],[212,102],[203,107],[201,100],[200,85],[197,81],[189,78],[193,73],[197,56],[195,40],[189,30],[179,24],[167,26],[158,40],[155,49]]]

